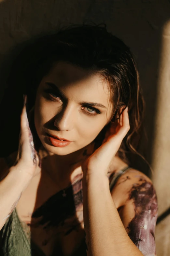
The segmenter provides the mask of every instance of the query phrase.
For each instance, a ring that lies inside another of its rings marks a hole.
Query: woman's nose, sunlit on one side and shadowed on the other
[[[56,115],[54,125],[60,131],[72,130],[73,120],[75,120],[75,108],[74,106],[67,105],[60,113]]]

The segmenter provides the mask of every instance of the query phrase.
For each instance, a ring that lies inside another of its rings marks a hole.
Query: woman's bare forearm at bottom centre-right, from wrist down
[[[109,191],[107,177],[83,178],[88,256],[142,256],[129,238]]]

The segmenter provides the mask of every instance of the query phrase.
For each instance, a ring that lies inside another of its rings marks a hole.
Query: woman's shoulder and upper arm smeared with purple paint
[[[129,169],[113,188],[112,198],[131,240],[144,255],[156,255],[155,226],[158,204],[151,180],[143,173]]]

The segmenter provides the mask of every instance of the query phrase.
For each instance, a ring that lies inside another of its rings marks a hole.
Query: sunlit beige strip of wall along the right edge
[[[154,134],[152,179],[161,214],[170,207],[170,21],[162,29]],[[158,255],[170,255],[170,215],[157,226],[156,243]]]

